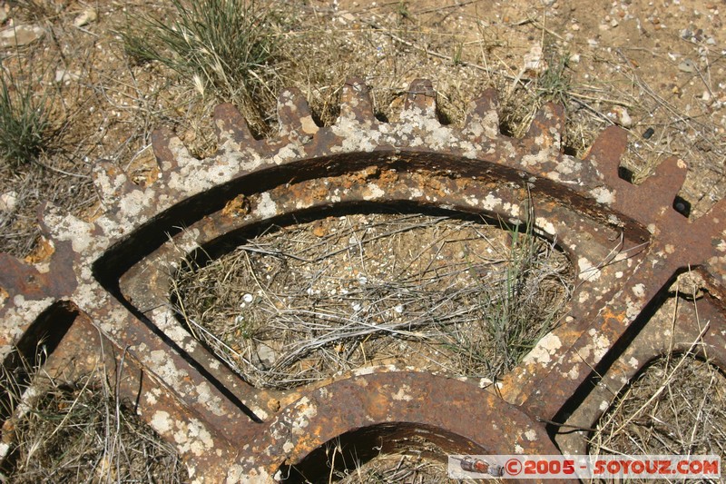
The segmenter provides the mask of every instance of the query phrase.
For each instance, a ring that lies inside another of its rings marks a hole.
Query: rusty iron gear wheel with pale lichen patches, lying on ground
[[[701,351],[726,368],[726,204],[697,220],[676,211],[681,160],[636,186],[618,175],[623,130],[606,129],[576,159],[562,150],[562,107],[544,105],[515,139],[500,133],[490,90],[463,126],[443,125],[426,80],[411,84],[396,123],[376,119],[358,79],[344,85],[331,126],[315,123],[292,89],[280,94],[278,115],[279,136],[260,141],[233,106],[218,106],[218,153],[203,160],[172,133],[154,133],[158,180],[145,187],[98,163],[105,212],[92,222],[45,206],[52,253],[34,264],[0,259],[5,366],[17,364],[14,346],[28,351],[40,338],[51,369],[105,359],[199,482],[280,479],[291,468],[315,475],[320,449],[335,439],[358,443],[361,456],[381,441],[383,451],[426,441],[444,454],[584,453],[586,435],[560,435],[559,425],[592,427],[629,378],[678,350],[650,315],[688,268],[703,280],[701,326],[679,320],[678,341],[701,338]],[[496,385],[387,367],[257,389],[170,308],[170,272],[185,257],[264,222],[382,203],[524,222],[530,202],[535,230],[574,263],[577,285],[566,321]]]

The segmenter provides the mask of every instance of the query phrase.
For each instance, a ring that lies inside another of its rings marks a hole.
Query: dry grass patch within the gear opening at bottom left
[[[99,370],[74,380],[29,368],[20,384],[4,371],[0,480],[35,482],[146,482],[187,480],[176,449],[121,401]]]

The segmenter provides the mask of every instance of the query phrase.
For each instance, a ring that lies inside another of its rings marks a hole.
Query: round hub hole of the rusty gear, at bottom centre
[[[277,476],[286,483],[451,482],[448,454],[483,452],[439,429],[390,423],[330,440]]]

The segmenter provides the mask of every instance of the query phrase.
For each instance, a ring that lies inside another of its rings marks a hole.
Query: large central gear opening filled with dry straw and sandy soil
[[[524,226],[348,212],[268,225],[218,258],[188,260],[172,302],[261,388],[380,365],[495,380],[552,330],[573,273]]]

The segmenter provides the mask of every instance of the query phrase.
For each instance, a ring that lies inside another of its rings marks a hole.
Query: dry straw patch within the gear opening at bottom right
[[[652,361],[603,415],[591,453],[726,458],[726,375],[692,353]]]

